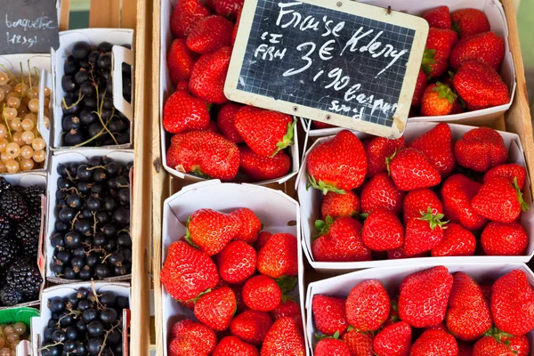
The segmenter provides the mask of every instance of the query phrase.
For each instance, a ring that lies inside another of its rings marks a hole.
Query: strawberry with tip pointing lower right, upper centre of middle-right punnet
[[[441,182],[440,173],[421,151],[405,149],[391,159],[389,171],[400,190],[433,187]]]

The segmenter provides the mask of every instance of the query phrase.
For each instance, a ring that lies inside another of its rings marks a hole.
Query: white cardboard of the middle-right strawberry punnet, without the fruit
[[[404,140],[407,145],[413,142],[421,134],[425,134],[431,130],[438,123],[435,122],[409,122],[404,133]],[[452,131],[452,138],[457,141],[466,132],[473,130],[476,127],[467,125],[449,124]],[[506,132],[498,132],[508,148],[508,162],[517,163],[521,166],[526,166],[524,151],[522,144],[517,134]],[[354,133],[360,140],[370,137],[368,134]],[[477,262],[477,263],[527,263],[530,258],[534,256],[534,206],[532,206],[532,194],[530,192],[530,178],[527,177],[527,182],[523,190],[523,198],[529,204],[530,209],[521,214],[521,221],[527,236],[529,237],[529,246],[527,247],[526,255],[517,256],[489,256],[489,255],[473,255],[473,256],[451,256],[451,257],[419,257],[419,258],[403,258],[398,260],[375,260],[365,262],[343,262],[343,263],[326,263],[316,262],[312,256],[312,237],[315,235],[315,220],[320,219],[320,204],[322,201],[322,192],[320,190],[310,188],[306,189],[308,183],[308,175],[306,170],[306,159],[310,152],[320,143],[327,141],[333,136],[321,137],[313,143],[312,147],[306,152],[303,158],[301,170],[296,179],[296,190],[298,191],[298,198],[301,204],[301,221],[303,229],[303,248],[304,255],[308,258],[310,264],[316,271],[354,271],[361,268],[397,266],[397,265],[417,265],[420,263],[460,263],[460,262]]]

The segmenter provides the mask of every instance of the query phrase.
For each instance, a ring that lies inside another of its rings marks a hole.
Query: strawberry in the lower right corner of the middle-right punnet
[[[524,255],[529,237],[519,223],[491,222],[482,231],[481,245],[486,255]]]

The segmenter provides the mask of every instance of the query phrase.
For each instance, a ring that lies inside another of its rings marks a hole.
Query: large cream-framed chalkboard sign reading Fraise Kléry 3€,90
[[[350,0],[246,0],[224,93],[400,137],[427,35],[421,18]]]

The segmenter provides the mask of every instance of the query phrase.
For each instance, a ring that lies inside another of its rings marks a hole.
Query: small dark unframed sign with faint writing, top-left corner
[[[60,46],[56,0],[0,0],[0,54],[50,53]]]

